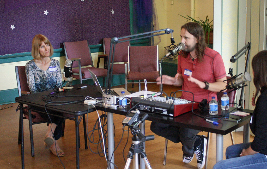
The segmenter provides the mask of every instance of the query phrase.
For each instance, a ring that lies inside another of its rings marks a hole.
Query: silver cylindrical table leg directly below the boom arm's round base
[[[114,131],[113,131],[113,113],[107,113],[108,115],[108,169],[114,169]],[[113,156],[111,156],[113,154]]]

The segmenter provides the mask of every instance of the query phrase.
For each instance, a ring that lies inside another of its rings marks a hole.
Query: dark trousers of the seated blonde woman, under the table
[[[32,107],[32,108],[35,109],[35,110],[46,112],[45,109],[42,109],[42,108],[39,108],[39,107]],[[51,110],[47,110],[47,112],[62,116],[62,113],[59,113],[59,112],[53,112]],[[56,127],[56,129],[55,129],[53,134],[54,134],[55,140],[60,139],[60,137],[62,136],[62,123],[64,121],[64,118],[56,117],[56,116],[52,116],[52,115],[48,116],[48,114],[46,114],[46,113],[39,113],[39,114],[43,119],[47,119],[47,125],[50,124],[50,123],[55,123],[57,125],[57,127]]]

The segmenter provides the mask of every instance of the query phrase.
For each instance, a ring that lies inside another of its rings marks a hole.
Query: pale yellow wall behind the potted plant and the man
[[[158,13],[159,29],[173,29],[173,38],[175,44],[180,43],[180,29],[187,21],[182,16],[190,16],[190,5],[194,2],[195,17],[205,20],[209,16],[213,20],[213,0],[155,0]],[[209,5],[207,5],[209,4]],[[171,34],[161,35],[161,43],[159,44],[159,58],[162,58],[168,51],[164,48],[171,44]]]

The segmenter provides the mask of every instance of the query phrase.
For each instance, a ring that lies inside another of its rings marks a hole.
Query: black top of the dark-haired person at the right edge
[[[265,87],[262,88],[261,95],[257,99],[249,125],[255,135],[251,148],[267,155],[267,89]]]

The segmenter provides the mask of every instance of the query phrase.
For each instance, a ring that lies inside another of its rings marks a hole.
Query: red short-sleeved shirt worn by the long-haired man
[[[192,92],[194,94],[194,101],[200,102],[202,99],[210,101],[213,96],[217,100],[216,92],[201,89],[197,84],[189,82],[187,80],[189,76],[184,74],[185,69],[192,71],[192,77],[195,79],[209,83],[216,82],[217,79],[226,76],[222,56],[218,52],[211,48],[206,48],[202,62],[198,62],[197,58],[192,61],[190,55],[186,58],[178,56],[177,69],[177,72],[182,74],[184,80],[182,90]],[[189,92],[182,91],[181,98],[193,101],[193,95]]]

